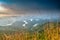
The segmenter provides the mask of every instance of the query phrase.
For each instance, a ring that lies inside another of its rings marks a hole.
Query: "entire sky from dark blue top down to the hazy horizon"
[[[1,16],[50,15],[59,14],[58,0],[0,0],[0,7],[4,7]],[[46,12],[46,13],[44,13]],[[50,13],[49,13],[50,12]],[[52,13],[51,13],[52,12]]]

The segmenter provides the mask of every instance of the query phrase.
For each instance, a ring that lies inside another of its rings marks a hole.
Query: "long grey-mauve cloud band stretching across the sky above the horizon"
[[[35,8],[30,8],[30,7],[24,7],[22,6],[22,4],[16,4],[16,3],[12,3],[12,4],[7,4],[7,3],[3,3],[1,4],[2,6],[4,6],[5,8],[8,9],[8,11],[6,12],[0,12],[0,17],[3,16],[40,16],[43,18],[48,18],[51,17],[57,17],[60,16],[60,12],[59,10],[44,10],[44,9],[35,9]],[[25,5],[26,6],[26,5]]]

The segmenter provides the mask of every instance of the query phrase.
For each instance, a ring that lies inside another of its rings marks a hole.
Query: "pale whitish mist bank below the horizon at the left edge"
[[[9,26],[16,22],[15,18],[0,18],[0,26]]]

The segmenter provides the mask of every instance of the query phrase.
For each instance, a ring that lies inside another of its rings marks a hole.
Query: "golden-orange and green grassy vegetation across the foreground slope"
[[[37,31],[4,31],[0,33],[0,40],[60,40],[60,23],[46,23],[43,30]]]

